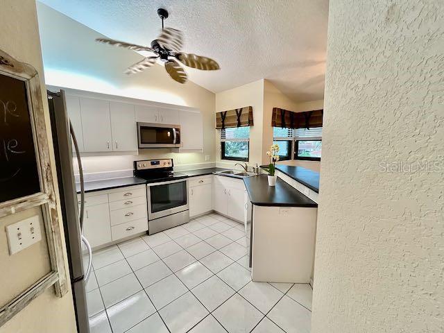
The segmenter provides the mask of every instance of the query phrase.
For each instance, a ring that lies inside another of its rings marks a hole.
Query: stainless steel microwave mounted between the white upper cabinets
[[[180,126],[164,123],[137,123],[139,148],[179,148]]]

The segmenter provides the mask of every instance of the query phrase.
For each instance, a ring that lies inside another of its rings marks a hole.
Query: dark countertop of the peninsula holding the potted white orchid
[[[251,203],[257,206],[318,207],[313,200],[278,178],[276,186],[268,186],[266,175],[244,178]]]

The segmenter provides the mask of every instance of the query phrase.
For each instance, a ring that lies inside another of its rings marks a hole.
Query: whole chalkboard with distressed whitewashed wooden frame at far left
[[[0,327],[49,287],[59,297],[69,291],[43,101],[37,70],[0,50],[0,225],[3,216],[40,207],[51,262],[51,271],[0,305]]]

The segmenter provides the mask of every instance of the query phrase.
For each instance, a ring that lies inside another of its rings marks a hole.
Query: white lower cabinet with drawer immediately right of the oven
[[[213,210],[213,176],[191,178],[189,181],[189,216],[194,217]]]

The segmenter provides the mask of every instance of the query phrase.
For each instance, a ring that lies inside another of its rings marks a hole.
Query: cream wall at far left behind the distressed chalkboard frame
[[[42,55],[40,53],[40,38],[34,0],[1,1],[0,49],[19,61],[33,65],[37,69],[42,81],[42,96],[45,96]],[[46,99],[43,101],[43,106],[46,126],[49,126],[49,111]],[[49,142],[52,142],[51,133],[48,133],[48,137]],[[50,149],[53,179],[57,182],[53,151],[51,147]],[[56,201],[60,202],[58,194]],[[15,255],[9,255],[5,232],[6,225],[31,216],[39,216],[40,223],[43,223],[41,210],[37,207],[0,219],[0,267],[2,270],[0,275],[0,307],[30,287],[31,284],[42,278],[50,270],[48,248],[44,237],[42,241],[37,242],[33,246]],[[58,216],[61,216],[59,204]],[[62,219],[60,219],[60,223],[62,223]],[[60,225],[60,230],[63,233],[62,225]],[[69,272],[67,263],[66,270]],[[0,327],[0,332],[76,332],[71,291],[64,297],[58,298],[51,287]]]

